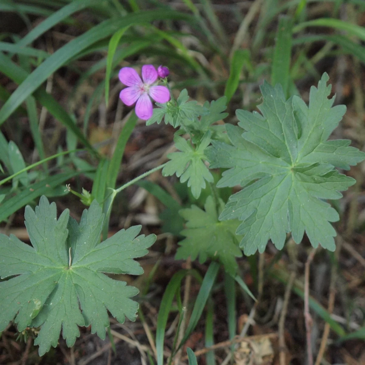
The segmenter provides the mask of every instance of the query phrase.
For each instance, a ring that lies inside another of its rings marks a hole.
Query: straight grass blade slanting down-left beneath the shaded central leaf
[[[178,345],[178,348],[184,345],[184,343],[187,341],[193,330],[195,329],[201,314],[203,313],[205,303],[207,303],[208,297],[211,293],[213,284],[215,282],[215,278],[217,277],[218,271],[219,271],[220,265],[218,262],[211,262],[209,265],[209,268],[207,270],[207,273],[204,276],[203,283],[201,283],[201,287],[199,290],[199,293],[196,297],[194,308],[189,320],[188,327],[185,331],[185,335],[181,342]]]

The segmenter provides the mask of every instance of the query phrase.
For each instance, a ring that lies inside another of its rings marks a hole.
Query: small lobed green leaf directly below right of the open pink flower
[[[181,91],[176,102],[170,100],[167,103],[156,103],[157,108],[153,110],[153,115],[147,120],[146,125],[157,123],[160,124],[162,118],[165,124],[171,124],[174,128],[181,125],[188,125],[196,121],[199,115],[207,114],[206,108],[197,105],[197,101],[188,101],[189,95],[187,89]],[[218,119],[219,120],[219,119]]]

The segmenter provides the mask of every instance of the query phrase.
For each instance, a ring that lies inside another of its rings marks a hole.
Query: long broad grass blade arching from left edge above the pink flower
[[[79,37],[68,42],[50,57],[48,57],[40,66],[38,66],[19,87],[12,93],[11,97],[5,102],[0,110],[0,125],[19,107],[23,101],[31,95],[50,74],[54,73],[63,66],[69,59],[80,53],[82,50],[91,46],[101,39],[109,37],[115,32],[115,29],[129,26],[133,23],[149,23],[152,20],[163,19],[180,19],[193,20],[191,16],[177,11],[145,11],[142,13],[132,14],[126,18],[116,18],[105,20]]]

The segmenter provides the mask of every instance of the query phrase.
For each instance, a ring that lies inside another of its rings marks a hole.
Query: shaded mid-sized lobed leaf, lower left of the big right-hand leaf
[[[223,208],[223,200],[219,199],[217,213],[213,197],[208,196],[204,210],[196,205],[180,210],[180,215],[187,220],[187,228],[181,231],[186,238],[179,242],[176,260],[186,260],[189,256],[192,260],[199,256],[201,264],[207,258],[219,260],[224,265],[224,269],[231,276],[235,276],[238,267],[235,258],[242,256],[242,251],[238,247],[242,236],[235,235],[240,222],[238,219],[219,222],[218,216]]]

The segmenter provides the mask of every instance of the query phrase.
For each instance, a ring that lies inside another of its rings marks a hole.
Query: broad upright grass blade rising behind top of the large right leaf
[[[284,95],[288,97],[289,68],[292,51],[292,19],[281,16],[276,32],[276,44],[274,50],[271,84],[281,84]]]

